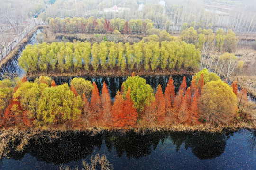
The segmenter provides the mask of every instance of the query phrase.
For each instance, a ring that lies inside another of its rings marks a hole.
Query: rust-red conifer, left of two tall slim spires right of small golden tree
[[[95,82],[93,82],[92,94],[91,94],[91,103],[90,103],[90,117],[98,121],[101,116],[101,97],[99,90]]]

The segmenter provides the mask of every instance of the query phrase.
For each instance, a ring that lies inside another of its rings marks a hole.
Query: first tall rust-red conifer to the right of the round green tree
[[[165,116],[165,98],[162,92],[161,85],[158,85],[155,93],[155,117],[156,119],[162,119]]]

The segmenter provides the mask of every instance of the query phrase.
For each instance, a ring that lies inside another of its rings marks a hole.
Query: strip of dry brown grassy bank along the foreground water
[[[62,136],[71,135],[73,133],[87,133],[88,135],[95,136],[103,134],[105,132],[112,133],[128,133],[135,132],[137,134],[146,134],[150,132],[210,132],[210,133],[233,133],[240,129],[256,130],[256,126],[244,122],[236,123],[233,125],[210,125],[201,124],[197,126],[188,126],[183,124],[173,124],[170,126],[146,126],[138,125],[137,127],[123,127],[123,128],[107,128],[107,127],[90,127],[86,129],[60,129],[57,127],[47,127],[44,130],[39,128],[30,128],[26,130],[20,130],[18,127],[9,129],[1,129],[0,131],[0,158],[6,157],[10,152],[22,152],[29,146],[31,140],[36,143],[40,143],[42,138],[47,141],[52,141]]]

